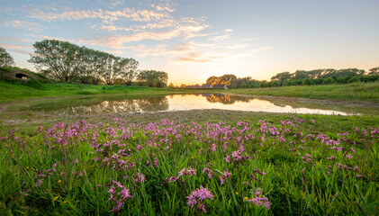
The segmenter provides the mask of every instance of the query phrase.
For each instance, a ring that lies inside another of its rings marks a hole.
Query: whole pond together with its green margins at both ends
[[[194,109],[221,109],[249,112],[379,115],[378,107],[334,101],[276,98],[233,94],[171,94],[140,98],[112,95],[28,103],[15,110],[45,112],[57,116],[121,112],[171,112]]]

